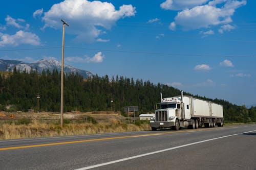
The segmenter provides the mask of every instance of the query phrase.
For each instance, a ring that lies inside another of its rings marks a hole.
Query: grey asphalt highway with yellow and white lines
[[[0,140],[0,169],[256,169],[256,125]]]

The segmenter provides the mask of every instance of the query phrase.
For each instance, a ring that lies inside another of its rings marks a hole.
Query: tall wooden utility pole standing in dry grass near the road
[[[65,41],[65,25],[68,25],[67,22],[65,22],[63,19],[61,19],[63,22],[63,28],[62,28],[62,58],[61,58],[61,96],[60,96],[60,127],[63,128],[63,72],[64,72],[64,41]]]

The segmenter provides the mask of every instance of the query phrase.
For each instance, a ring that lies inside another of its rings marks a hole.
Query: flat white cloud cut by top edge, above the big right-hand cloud
[[[166,0],[160,7],[165,10],[183,10],[205,4],[209,0]]]

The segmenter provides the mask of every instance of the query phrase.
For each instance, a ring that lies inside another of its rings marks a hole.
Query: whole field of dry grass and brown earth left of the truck
[[[134,120],[129,124],[120,113],[69,112],[59,125],[59,113],[0,112],[0,139],[34,138],[150,130],[147,121]]]

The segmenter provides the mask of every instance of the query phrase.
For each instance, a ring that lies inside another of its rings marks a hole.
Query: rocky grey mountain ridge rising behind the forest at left
[[[35,63],[25,63],[22,61],[16,61],[16,60],[0,60],[0,70],[1,71],[8,71],[13,70],[14,67],[20,71],[28,71],[37,69],[38,72],[42,72],[42,70],[50,70],[57,69],[58,71],[61,71],[61,63],[54,59],[42,59]],[[71,72],[78,73],[79,75],[82,75],[84,78],[88,78],[89,76],[94,76],[94,74],[88,70],[82,70],[75,68],[70,65],[64,65],[64,72],[65,74],[70,74]]]

